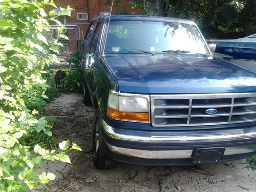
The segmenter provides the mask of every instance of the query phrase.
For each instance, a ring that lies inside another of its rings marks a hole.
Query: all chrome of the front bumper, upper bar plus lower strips
[[[104,134],[110,138],[119,140],[119,141],[134,141],[134,142],[224,142],[228,140],[246,140],[256,138],[256,131],[249,133],[236,133],[232,132],[229,134],[218,134],[218,135],[194,135],[194,136],[136,136],[136,135],[124,135],[121,133],[115,132],[115,129],[107,124],[104,120],[101,121]],[[106,142],[109,150],[113,153],[137,157],[143,159],[189,159],[193,158],[194,149],[189,150],[139,150],[133,148],[119,147],[111,145]],[[256,143],[245,144],[239,146],[228,146],[225,147],[224,156],[228,155],[238,155],[238,154],[248,154],[256,152]]]

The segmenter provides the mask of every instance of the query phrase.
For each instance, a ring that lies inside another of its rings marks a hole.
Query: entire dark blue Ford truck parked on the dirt
[[[82,42],[93,161],[193,165],[256,154],[256,74],[212,56],[186,19],[96,17]]]

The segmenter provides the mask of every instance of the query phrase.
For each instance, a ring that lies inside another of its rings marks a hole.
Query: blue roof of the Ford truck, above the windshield
[[[96,19],[108,20],[109,15],[98,16]],[[110,20],[145,20],[145,21],[156,21],[156,22],[175,22],[175,23],[185,23],[192,24],[195,23],[192,20],[182,19],[182,18],[173,18],[173,17],[157,17],[157,16],[145,16],[145,15],[111,15]]]

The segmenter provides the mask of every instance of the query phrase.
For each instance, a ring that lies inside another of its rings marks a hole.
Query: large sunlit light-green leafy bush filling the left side
[[[52,20],[66,15],[51,11],[48,18],[44,6],[56,6],[44,0],[0,1],[0,191],[25,191],[36,184],[55,179],[52,173],[35,172],[42,160],[70,163],[66,153],[76,144],[65,141],[58,150],[47,150],[42,143],[52,136],[46,117],[38,118],[42,104],[49,97],[49,86],[42,74],[45,66],[57,60],[61,44],[47,40]],[[61,34],[63,27],[57,28]],[[59,36],[66,38],[63,36]]]

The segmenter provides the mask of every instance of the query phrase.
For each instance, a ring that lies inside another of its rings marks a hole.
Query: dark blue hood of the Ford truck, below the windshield
[[[129,93],[256,92],[256,74],[230,62],[195,54],[122,54],[103,57]]]

